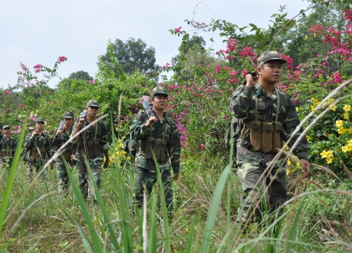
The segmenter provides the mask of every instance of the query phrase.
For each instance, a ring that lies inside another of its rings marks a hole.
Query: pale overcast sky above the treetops
[[[106,52],[108,39],[141,38],[156,48],[158,65],[165,65],[181,42],[168,30],[181,26],[193,32],[185,19],[224,19],[239,27],[253,23],[266,28],[270,15],[285,4],[287,18],[308,7],[302,0],[0,0],[0,88],[15,84],[20,62],[30,69],[37,64],[52,67],[59,56],[68,58],[58,69],[60,77],[79,70],[94,77],[97,56]],[[223,48],[216,34],[214,43],[209,41],[213,34],[199,35],[207,48]]]

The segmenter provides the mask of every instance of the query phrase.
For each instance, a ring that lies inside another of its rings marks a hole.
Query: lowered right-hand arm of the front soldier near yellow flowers
[[[284,129],[287,132],[287,136],[284,137],[284,141],[288,142],[289,138],[291,138],[292,133],[295,131],[296,127],[298,124],[300,124],[300,121],[298,119],[297,111],[296,111],[296,106],[294,103],[292,103],[291,98],[288,97],[288,105],[286,108],[286,117],[284,119]],[[293,151],[294,155],[298,157],[298,159],[305,159],[308,160],[308,149],[309,149],[309,144],[307,141],[306,136],[301,136],[303,129],[299,129],[296,134],[291,138],[291,141],[289,141],[287,144],[291,148],[292,145],[296,141],[298,141],[296,148]],[[300,137],[301,136],[301,137]]]

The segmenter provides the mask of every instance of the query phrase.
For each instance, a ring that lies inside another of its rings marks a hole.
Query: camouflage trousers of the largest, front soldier
[[[286,167],[274,168],[264,173],[266,165],[264,160],[259,165],[253,165],[244,161],[237,161],[237,175],[242,183],[244,195],[241,198],[241,208],[239,208],[237,223],[246,223],[253,214],[258,221],[262,220],[263,200],[268,203],[268,212],[273,213],[284,211],[280,207],[287,200],[287,174]],[[252,215],[251,215],[252,214]]]

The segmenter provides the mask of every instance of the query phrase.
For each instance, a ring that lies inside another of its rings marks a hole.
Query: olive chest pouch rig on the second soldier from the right
[[[142,141],[139,147],[140,152],[146,157],[146,159],[153,159],[153,153],[158,162],[163,162],[168,155],[168,141],[165,140],[166,131],[168,131],[168,123],[165,125],[162,138],[154,138],[151,136],[152,128],[150,128],[150,134],[146,140]]]

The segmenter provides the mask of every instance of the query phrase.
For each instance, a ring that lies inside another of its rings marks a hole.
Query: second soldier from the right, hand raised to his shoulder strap
[[[136,184],[134,197],[137,205],[142,206],[144,186],[146,195],[150,195],[153,184],[156,183],[156,164],[151,151],[156,155],[161,180],[165,190],[165,204],[169,214],[172,212],[171,182],[177,180],[180,174],[181,142],[175,122],[164,112],[168,105],[168,91],[163,86],[156,86],[151,94],[153,111],[151,117],[140,110],[132,122],[132,138],[140,141],[140,148],[135,158]],[[174,176],[171,176],[172,168]]]

